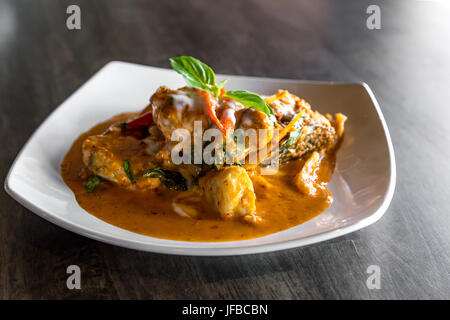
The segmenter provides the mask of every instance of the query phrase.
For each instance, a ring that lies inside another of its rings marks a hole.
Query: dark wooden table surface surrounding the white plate
[[[81,8],[81,30],[66,28],[70,4]],[[366,27],[370,4],[381,8],[380,30]],[[108,61],[169,67],[177,55],[218,73],[368,83],[398,172],[376,224],[237,257],[104,244],[54,226],[2,190],[0,298],[450,298],[449,16],[448,5],[432,1],[0,1],[3,179],[37,126]],[[72,264],[81,267],[81,290],[66,287]],[[366,286],[370,265],[380,267],[379,290]]]

